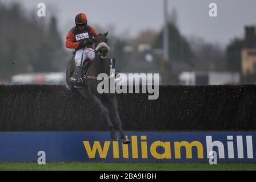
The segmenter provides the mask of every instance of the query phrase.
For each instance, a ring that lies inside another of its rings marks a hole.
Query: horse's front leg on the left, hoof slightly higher
[[[109,110],[107,109],[107,107],[105,105],[102,104],[101,99],[99,97],[94,95],[93,99],[96,102],[96,104],[101,108],[102,118],[103,118],[104,121],[106,121],[107,127],[109,127],[109,129],[110,129],[111,139],[117,140],[118,135],[115,133],[114,125],[112,124],[112,122],[110,120]]]

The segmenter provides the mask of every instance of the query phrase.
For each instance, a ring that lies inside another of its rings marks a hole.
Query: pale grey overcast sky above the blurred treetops
[[[1,0],[0,0],[1,1]],[[8,0],[9,2],[17,0]],[[5,2],[5,1],[2,1]],[[46,4],[46,16],[55,12],[63,38],[74,26],[74,17],[86,13],[89,24],[105,28],[111,24],[117,34],[135,36],[139,31],[163,26],[163,0],[19,0],[27,10]],[[217,3],[218,17],[209,16],[209,4]],[[255,0],[169,0],[168,11],[176,9],[178,27],[187,37],[199,36],[207,42],[226,45],[242,37],[244,26],[256,25]],[[48,14],[47,14],[48,12]],[[31,11],[37,14],[37,11]],[[111,33],[111,32],[110,32]]]

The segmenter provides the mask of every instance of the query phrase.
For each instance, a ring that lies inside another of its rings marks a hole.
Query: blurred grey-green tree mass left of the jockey
[[[55,65],[65,51],[54,16],[48,26],[44,18],[27,16],[19,3],[7,7],[0,2],[0,38],[0,77],[61,70]]]

